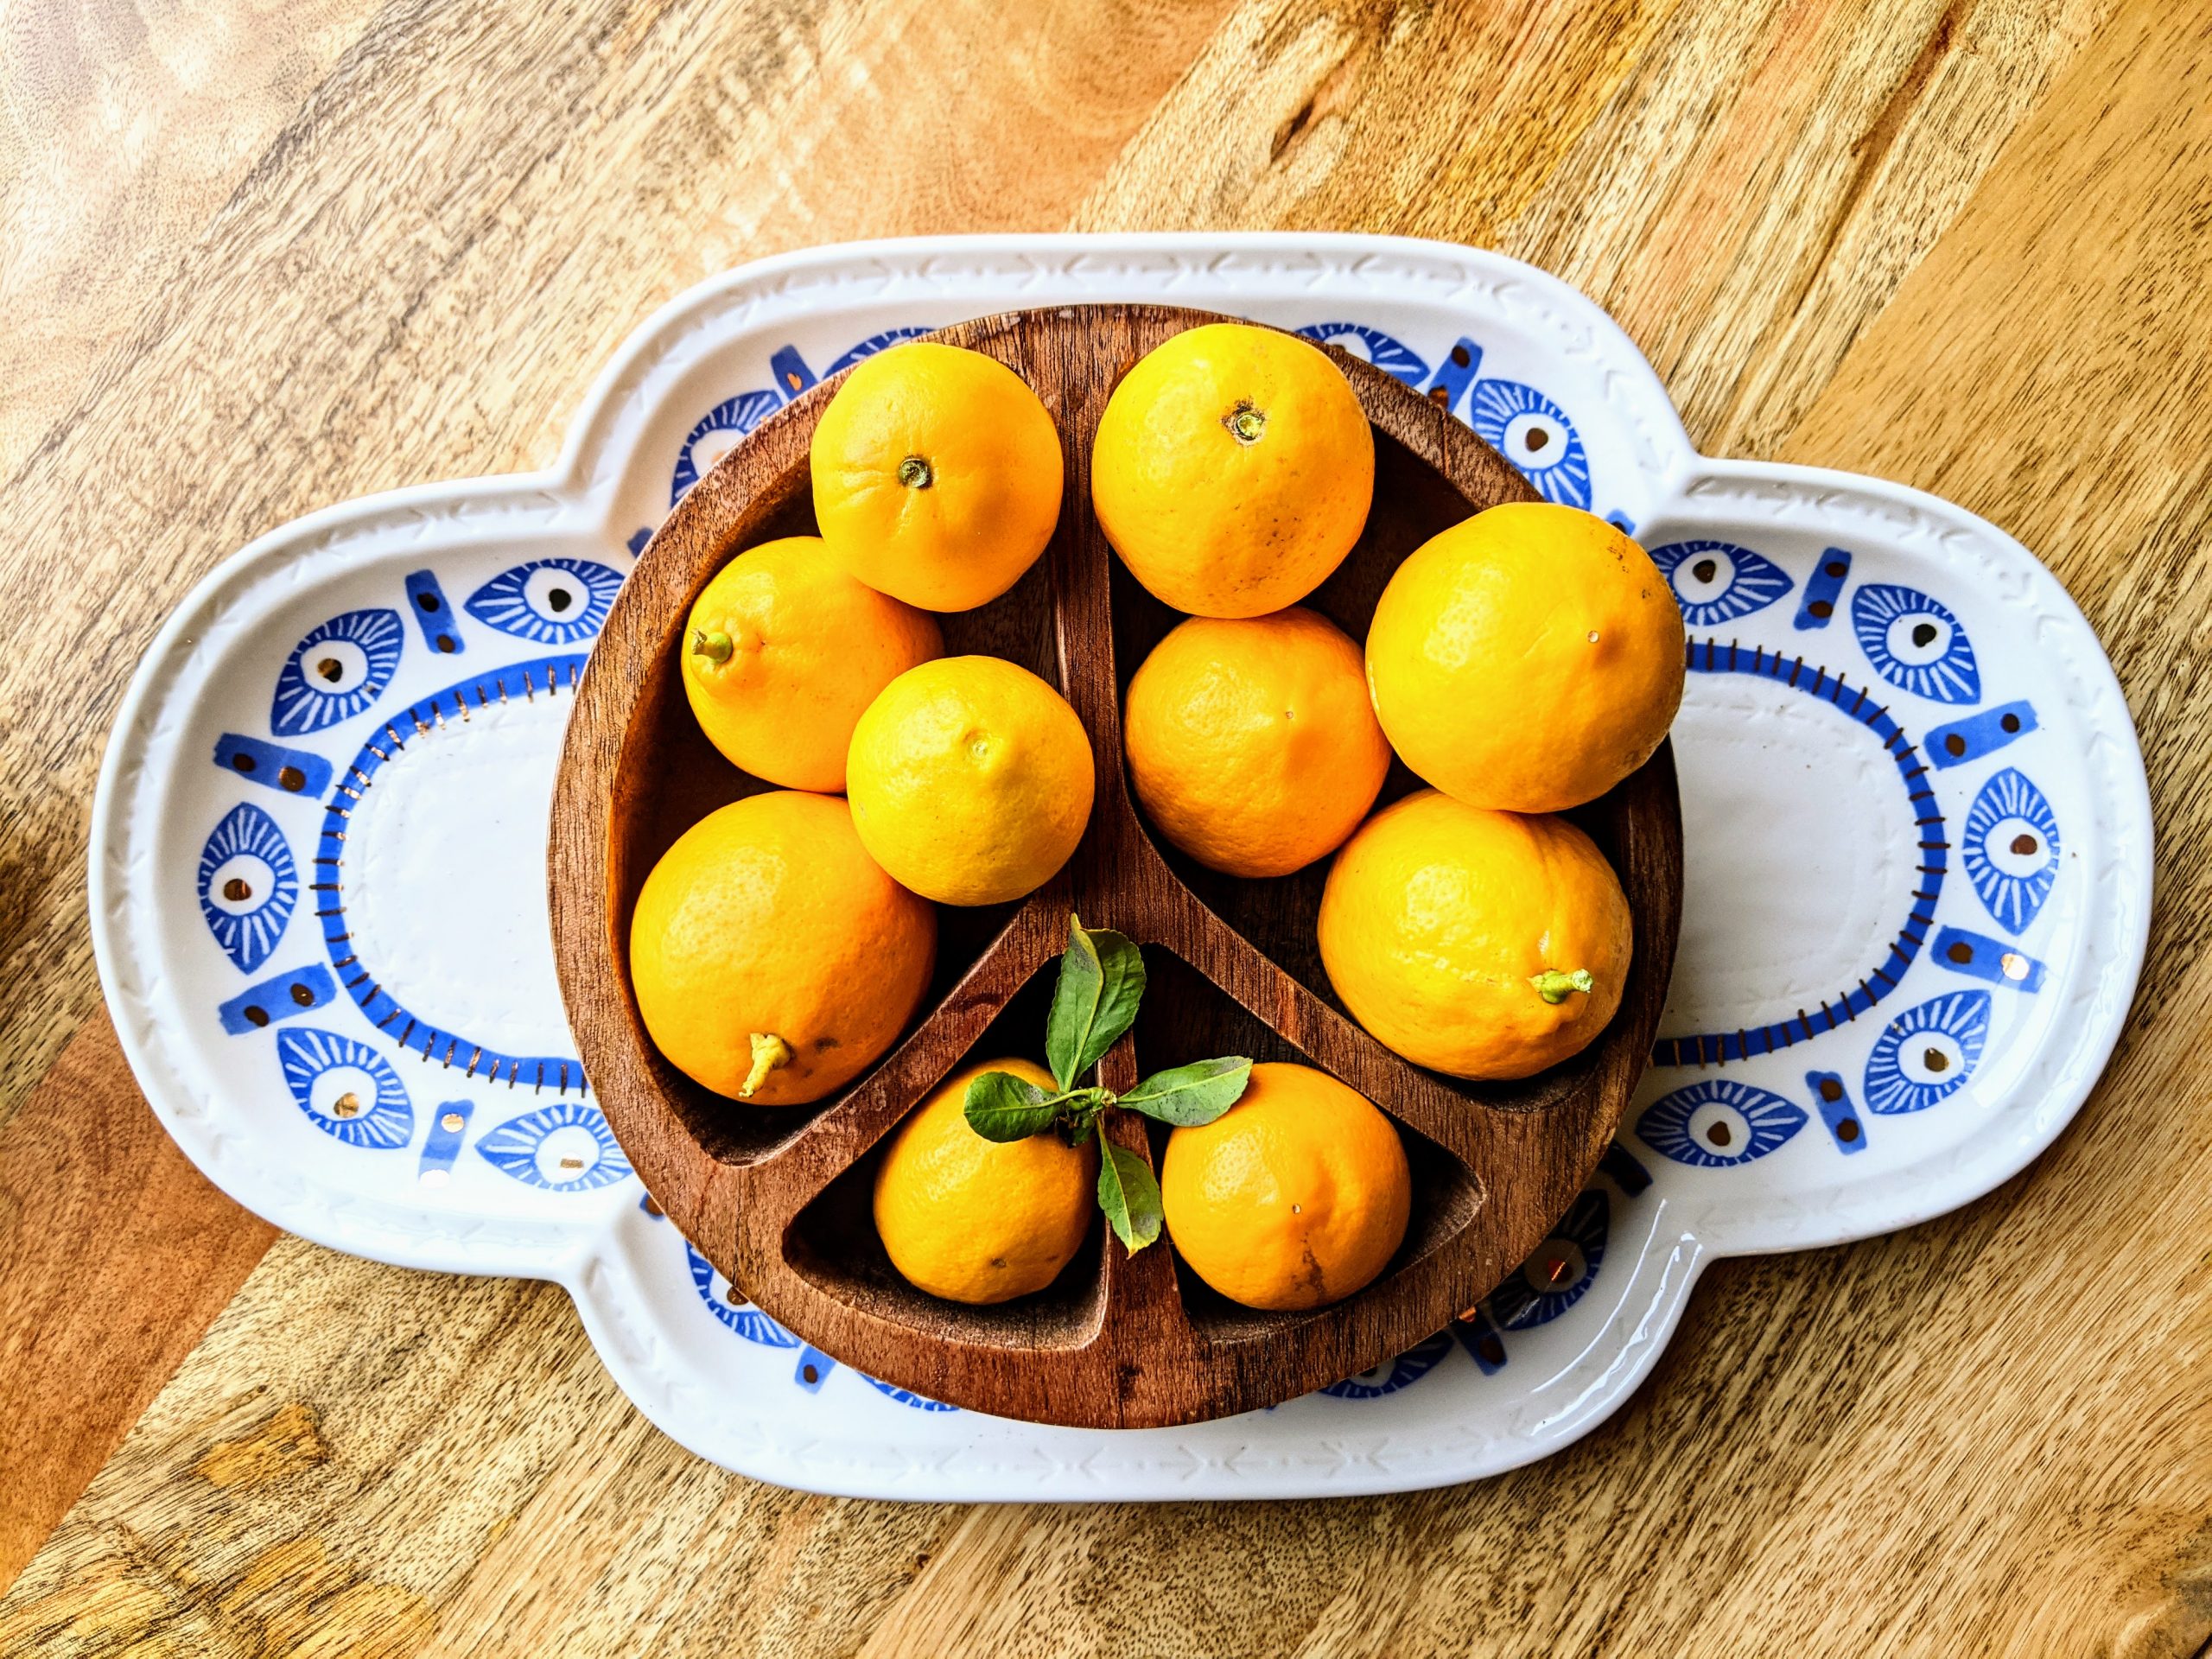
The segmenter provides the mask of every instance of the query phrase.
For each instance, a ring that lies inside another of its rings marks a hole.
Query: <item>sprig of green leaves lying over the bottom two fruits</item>
[[[1124,1108],[1177,1128],[1212,1124],[1252,1082],[1252,1062],[1230,1055],[1170,1066],[1115,1095],[1079,1082],[1121,1033],[1137,1022],[1144,1000],[1144,953],[1113,929],[1084,927],[1068,916],[1068,949],[1060,958],[1053,1009],[1044,1018],[1044,1057],[1053,1088],[1009,1071],[987,1071],[967,1086],[969,1128],[987,1141],[1020,1141],[1060,1133],[1068,1146],[1097,1135],[1108,1108]],[[1159,1239],[1159,1181],[1137,1155],[1099,1135],[1099,1210],[1130,1252]]]

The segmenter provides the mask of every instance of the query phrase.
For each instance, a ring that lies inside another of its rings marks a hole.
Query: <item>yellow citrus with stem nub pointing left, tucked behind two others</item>
[[[945,653],[938,619],[860,586],[814,535],[739,553],[684,628],[684,695],[732,765],[787,790],[845,790],[876,692]]]

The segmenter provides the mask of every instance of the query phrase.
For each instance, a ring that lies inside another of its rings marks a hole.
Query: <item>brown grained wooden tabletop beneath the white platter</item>
[[[1405,1498],[838,1502],[650,1429],[544,1285],[274,1237],[131,1086],[100,748],[219,557],[540,467],[655,305],[843,237],[1531,259],[1719,456],[2053,564],[2159,907],[2028,1172],[1723,1263],[1571,1451]],[[2201,0],[0,0],[0,1652],[2194,1655],[2212,1637]]]

